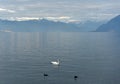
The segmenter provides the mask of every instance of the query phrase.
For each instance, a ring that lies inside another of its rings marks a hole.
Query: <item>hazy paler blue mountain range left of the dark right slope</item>
[[[65,23],[46,19],[28,21],[0,20],[1,32],[88,32],[96,30],[102,23],[87,21],[84,23]]]

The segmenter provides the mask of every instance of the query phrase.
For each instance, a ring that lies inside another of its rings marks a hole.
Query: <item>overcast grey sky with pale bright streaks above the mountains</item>
[[[106,21],[120,14],[120,0],[0,0],[0,19]]]

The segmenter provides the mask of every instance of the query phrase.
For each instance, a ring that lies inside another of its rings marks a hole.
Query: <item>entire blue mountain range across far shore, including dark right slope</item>
[[[60,22],[46,19],[10,21],[0,19],[0,32],[120,32],[120,15],[105,22]]]

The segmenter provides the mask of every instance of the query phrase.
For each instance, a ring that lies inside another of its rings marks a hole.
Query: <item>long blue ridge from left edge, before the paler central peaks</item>
[[[3,32],[80,32],[81,28],[75,24],[54,22],[49,20],[8,21],[0,20],[0,31]]]

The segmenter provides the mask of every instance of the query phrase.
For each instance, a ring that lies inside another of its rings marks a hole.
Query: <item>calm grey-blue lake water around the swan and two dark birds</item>
[[[120,84],[119,60],[120,34],[0,33],[0,84]]]

